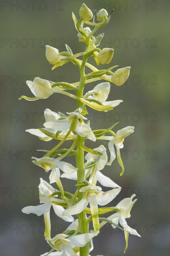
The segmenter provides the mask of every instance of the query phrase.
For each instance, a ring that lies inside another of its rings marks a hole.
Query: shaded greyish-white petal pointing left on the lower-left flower
[[[51,208],[51,204],[50,203],[43,203],[37,206],[26,206],[22,209],[23,213],[26,214],[36,214],[37,216],[41,216],[46,212],[49,212]]]

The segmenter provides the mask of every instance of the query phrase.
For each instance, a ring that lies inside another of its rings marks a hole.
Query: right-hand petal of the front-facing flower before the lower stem
[[[117,189],[111,189],[107,192],[100,192],[99,198],[98,198],[98,204],[99,205],[106,205],[109,202],[111,202],[119,193],[120,193],[120,188]]]

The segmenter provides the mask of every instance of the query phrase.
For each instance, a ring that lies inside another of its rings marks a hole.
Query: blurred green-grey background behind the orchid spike
[[[44,142],[25,132],[43,126],[45,108],[70,112],[76,102],[53,94],[46,100],[18,101],[20,95],[32,97],[26,80],[39,76],[51,81],[76,82],[79,71],[71,63],[54,71],[45,58],[45,45],[73,53],[84,50],[78,42],[72,11],[78,16],[81,0],[1,1],[1,255],[35,256],[49,251],[43,236],[43,217],[24,215],[21,209],[39,204],[39,177],[48,174],[31,162],[36,149],[50,149],[55,141]],[[127,256],[169,255],[169,1],[85,1],[94,13],[105,8],[114,12],[109,25],[100,29],[105,40],[100,47],[114,48],[111,65],[131,66],[126,85],[111,86],[109,100],[122,99],[110,113],[88,108],[93,129],[135,127],[124,142],[122,177],[117,161],[106,167],[122,186],[113,202],[137,195],[128,223],[142,236],[129,236]],[[91,63],[94,63],[91,60]],[[99,66],[103,68],[103,66]],[[107,67],[104,66],[104,67]],[[110,65],[109,65],[110,67]],[[93,88],[86,86],[86,91]],[[108,117],[108,118],[107,118]],[[101,141],[88,141],[91,148]],[[102,141],[105,146],[104,141]],[[65,148],[70,144],[66,142]],[[40,157],[41,155],[39,155]],[[67,159],[75,164],[73,158]],[[63,179],[65,189],[75,191],[75,182]],[[68,223],[52,213],[52,236],[64,231]],[[123,255],[124,233],[108,225],[94,239],[91,255]]]

